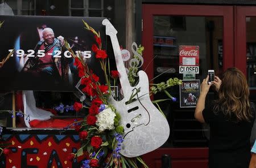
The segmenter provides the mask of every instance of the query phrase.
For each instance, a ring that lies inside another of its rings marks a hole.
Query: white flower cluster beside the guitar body
[[[104,130],[113,130],[114,127],[114,118],[115,118],[115,113],[112,111],[110,108],[105,109],[101,111],[97,117],[97,122],[96,125],[98,126],[98,129],[100,132]]]

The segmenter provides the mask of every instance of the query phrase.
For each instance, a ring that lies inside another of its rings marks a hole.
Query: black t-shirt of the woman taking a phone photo
[[[250,135],[254,117],[250,122],[236,122],[222,111],[213,112],[214,105],[203,110],[203,117],[210,125],[209,167],[249,167]],[[254,113],[253,113],[254,116]]]

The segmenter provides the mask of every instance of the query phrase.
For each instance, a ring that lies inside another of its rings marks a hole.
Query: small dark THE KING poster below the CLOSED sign
[[[196,107],[200,96],[200,80],[182,80],[180,85],[180,107]]]

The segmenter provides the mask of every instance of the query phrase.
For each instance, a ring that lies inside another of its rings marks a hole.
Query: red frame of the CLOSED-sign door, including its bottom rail
[[[205,5],[152,5],[142,6],[143,32],[142,45],[144,67],[148,79],[154,77],[153,59],[153,16],[154,15],[185,15],[185,16],[221,16],[224,21],[223,30],[223,68],[234,66],[234,33],[233,6],[205,6]],[[162,154],[170,154],[172,167],[208,167],[208,148],[165,148],[157,149],[143,156],[149,167],[160,167]]]

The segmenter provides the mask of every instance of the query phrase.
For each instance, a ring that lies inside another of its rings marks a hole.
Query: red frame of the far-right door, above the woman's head
[[[247,76],[246,71],[246,17],[256,16],[255,6],[236,7],[236,40],[235,40],[235,66]]]

